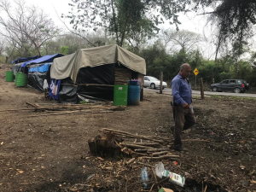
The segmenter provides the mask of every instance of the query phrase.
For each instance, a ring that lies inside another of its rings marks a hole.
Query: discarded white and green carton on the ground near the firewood
[[[174,172],[169,172],[165,170],[165,166],[163,165],[162,162],[155,165],[155,173],[157,177],[160,177],[160,178],[169,177],[170,179],[168,181],[171,183],[177,184],[178,186],[183,187],[185,184],[185,177],[178,175]]]

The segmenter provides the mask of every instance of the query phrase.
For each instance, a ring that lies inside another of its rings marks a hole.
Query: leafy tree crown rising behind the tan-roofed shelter
[[[72,11],[67,15],[75,30],[103,27],[108,36],[122,46],[137,44],[158,32],[158,24],[169,20],[179,23],[177,13],[185,10],[189,0],[72,0]],[[137,45],[136,45],[137,46]]]

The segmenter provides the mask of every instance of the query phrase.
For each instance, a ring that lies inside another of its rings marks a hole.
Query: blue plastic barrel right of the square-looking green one
[[[140,104],[140,84],[129,84],[128,85],[128,105],[139,105]]]

